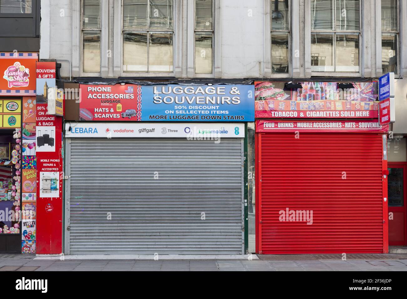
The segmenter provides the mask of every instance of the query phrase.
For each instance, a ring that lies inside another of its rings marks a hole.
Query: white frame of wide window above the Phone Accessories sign
[[[113,74],[122,77],[180,77],[182,75],[182,7],[173,1],[173,72],[123,72],[123,0],[114,1]],[[140,30],[141,31],[141,30]],[[151,30],[152,32],[155,30]],[[159,32],[159,31],[157,31]],[[148,63],[148,61],[147,61]]]

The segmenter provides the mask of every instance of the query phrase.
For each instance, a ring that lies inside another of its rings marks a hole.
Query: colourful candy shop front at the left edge
[[[35,53],[0,53],[0,253],[20,253],[35,244],[35,198],[22,189],[35,144],[22,127],[35,122],[37,60]]]

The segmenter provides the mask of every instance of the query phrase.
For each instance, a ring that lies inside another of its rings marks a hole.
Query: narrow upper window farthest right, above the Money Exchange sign
[[[383,74],[398,72],[398,11],[397,0],[381,0],[381,43]]]

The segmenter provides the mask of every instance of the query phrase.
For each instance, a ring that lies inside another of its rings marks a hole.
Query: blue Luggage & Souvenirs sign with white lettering
[[[254,121],[253,85],[142,86],[142,121]]]

